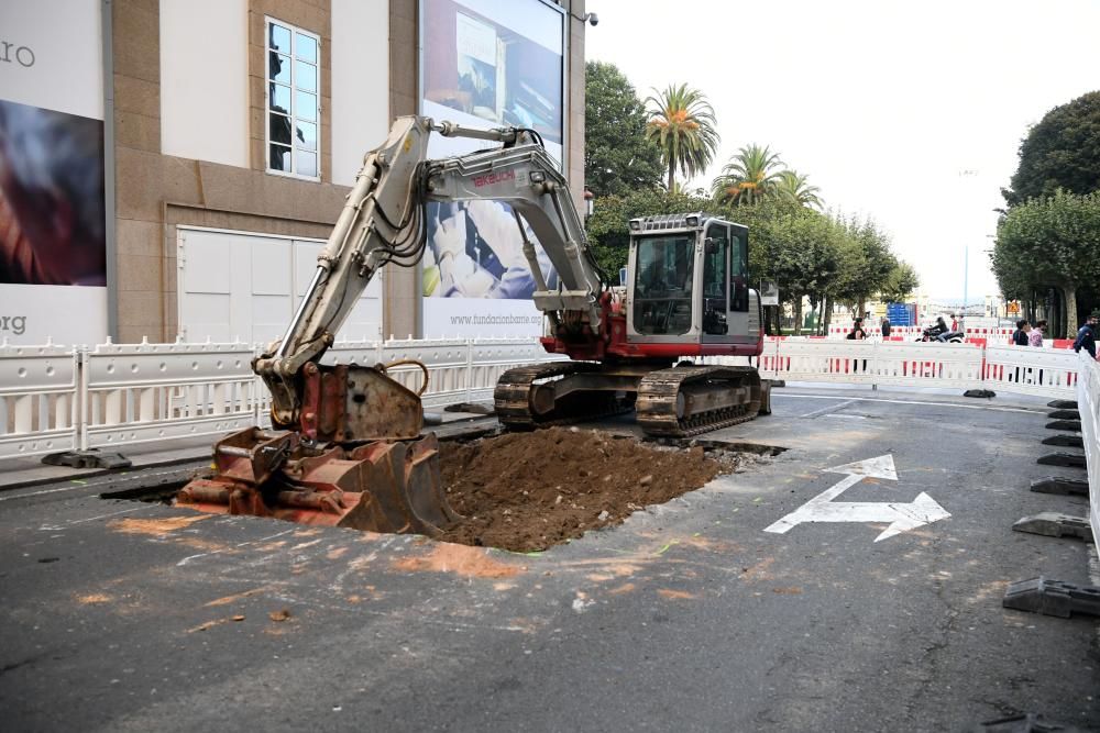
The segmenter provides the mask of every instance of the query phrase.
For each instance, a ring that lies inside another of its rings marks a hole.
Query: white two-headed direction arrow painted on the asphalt
[[[895,534],[909,532],[950,517],[947,510],[923,491],[910,503],[833,501],[846,489],[867,477],[897,481],[898,471],[894,469],[893,456],[890,454],[878,458],[857,460],[827,470],[848,475],[783,519],[766,527],[765,532],[783,534],[803,522],[889,522],[890,526],[875,538],[875,542],[881,542]]]

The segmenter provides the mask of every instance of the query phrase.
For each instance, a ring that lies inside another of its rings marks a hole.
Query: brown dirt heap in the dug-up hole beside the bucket
[[[576,427],[441,446],[443,486],[465,517],[442,540],[513,552],[544,549],[734,470],[702,447],[668,448]]]

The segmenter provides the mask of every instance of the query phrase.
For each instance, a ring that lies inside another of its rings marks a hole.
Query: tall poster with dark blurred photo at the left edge
[[[0,3],[0,342],[107,334],[98,0]]]

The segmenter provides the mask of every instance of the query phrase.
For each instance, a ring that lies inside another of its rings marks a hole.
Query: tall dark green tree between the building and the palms
[[[661,185],[661,149],[646,137],[646,108],[614,64],[584,68],[584,181],[595,196]]]

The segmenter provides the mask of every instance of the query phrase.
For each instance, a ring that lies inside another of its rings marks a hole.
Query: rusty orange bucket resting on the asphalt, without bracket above
[[[242,449],[245,438],[231,437],[232,447]],[[273,442],[272,435],[260,431],[254,437],[257,451]],[[250,468],[260,460],[232,457],[238,459],[233,465],[244,463]],[[265,464],[265,468],[270,470],[260,474],[267,478],[260,484],[240,470],[195,479],[176,495],[176,503],[221,514],[428,536],[439,536],[461,519],[442,489],[435,435],[408,444],[376,441],[351,452],[298,446],[280,467]]]

